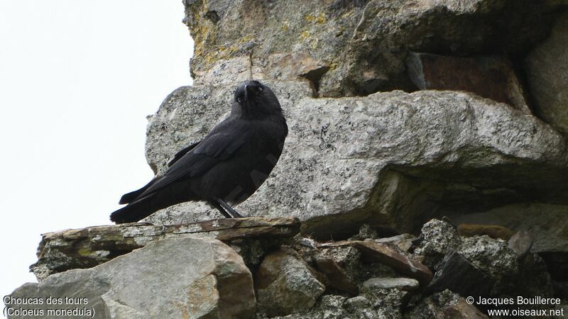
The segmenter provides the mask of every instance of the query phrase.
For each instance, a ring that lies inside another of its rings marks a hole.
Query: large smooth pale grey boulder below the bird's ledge
[[[256,306],[239,254],[219,240],[191,237],[153,241],[97,267],[25,284],[12,296],[87,298],[95,318],[252,318]]]

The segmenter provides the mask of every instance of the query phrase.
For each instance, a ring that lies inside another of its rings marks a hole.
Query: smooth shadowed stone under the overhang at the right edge
[[[532,252],[568,252],[568,206],[514,203],[479,213],[449,215],[455,223],[495,224],[533,236]]]

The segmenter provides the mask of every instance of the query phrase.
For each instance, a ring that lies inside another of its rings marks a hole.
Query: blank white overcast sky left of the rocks
[[[110,224],[153,176],[146,116],[192,83],[182,18],[181,0],[0,0],[1,296],[35,281],[41,233]]]

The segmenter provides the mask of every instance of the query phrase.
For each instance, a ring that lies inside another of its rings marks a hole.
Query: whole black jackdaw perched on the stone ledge
[[[231,113],[200,142],[180,150],[168,170],[137,191],[111,214],[116,223],[141,220],[185,201],[207,201],[226,217],[230,204],[249,198],[266,180],[282,153],[288,125],[278,99],[258,81],[239,85]]]

